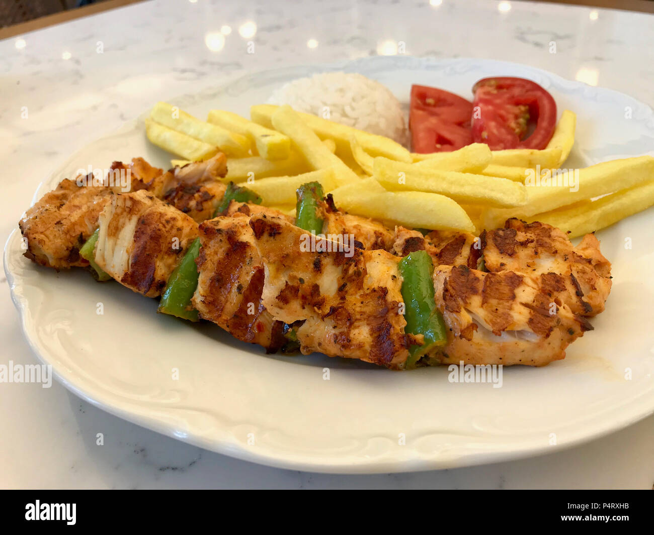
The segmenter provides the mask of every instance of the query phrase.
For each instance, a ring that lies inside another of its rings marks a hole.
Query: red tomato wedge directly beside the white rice
[[[472,103],[454,93],[411,86],[409,129],[413,152],[447,152],[472,143]]]

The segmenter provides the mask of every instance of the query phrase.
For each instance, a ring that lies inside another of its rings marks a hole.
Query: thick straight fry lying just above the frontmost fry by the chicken
[[[466,204],[515,207],[527,201],[525,186],[505,178],[441,171],[382,157],[375,158],[373,176],[387,189],[439,193]]]

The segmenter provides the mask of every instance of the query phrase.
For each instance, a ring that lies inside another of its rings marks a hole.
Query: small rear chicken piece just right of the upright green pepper
[[[392,250],[393,233],[390,229],[379,221],[339,212],[334,205],[332,195],[327,195],[326,201],[318,203],[317,211],[320,219],[324,221],[322,225],[324,235],[353,235],[354,240],[359,242],[360,249]]]

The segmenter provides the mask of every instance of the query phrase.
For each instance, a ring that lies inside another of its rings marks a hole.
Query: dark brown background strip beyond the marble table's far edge
[[[145,0],[0,0],[0,39],[138,1]],[[541,1],[654,13],[654,0]]]

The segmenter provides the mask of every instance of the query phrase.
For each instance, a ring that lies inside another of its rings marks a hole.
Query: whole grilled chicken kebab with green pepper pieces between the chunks
[[[291,218],[226,186],[222,154],[166,172],[113,167],[131,171],[128,193],[63,180],[27,211],[26,257],[88,267],[267,351],[392,369],[543,366],[593,328],[611,289],[594,235],[574,247],[519,219],[479,237],[390,229],[339,211],[317,182],[298,189]]]

